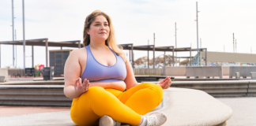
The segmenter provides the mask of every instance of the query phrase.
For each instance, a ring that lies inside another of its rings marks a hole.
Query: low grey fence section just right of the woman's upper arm
[[[134,69],[135,75],[156,75],[162,76],[163,69]]]

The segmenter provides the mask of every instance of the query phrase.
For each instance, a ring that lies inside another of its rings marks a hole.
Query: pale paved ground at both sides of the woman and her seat
[[[233,110],[228,126],[256,125],[256,98],[217,98]],[[70,108],[0,106],[0,125],[74,126]]]

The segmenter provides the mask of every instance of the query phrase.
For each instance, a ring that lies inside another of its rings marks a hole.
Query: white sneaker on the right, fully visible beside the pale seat
[[[147,120],[147,126],[160,126],[165,123],[167,117],[165,113],[154,112],[151,113],[149,116],[145,116],[144,119]]]

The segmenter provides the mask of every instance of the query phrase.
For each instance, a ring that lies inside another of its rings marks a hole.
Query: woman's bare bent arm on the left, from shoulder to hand
[[[88,90],[89,83],[87,80],[81,83],[81,65],[79,64],[79,50],[73,50],[66,59],[64,68],[64,94],[68,98],[77,98]],[[87,59],[87,57],[85,57]]]

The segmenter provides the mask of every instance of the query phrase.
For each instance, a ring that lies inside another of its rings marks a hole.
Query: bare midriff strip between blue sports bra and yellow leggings
[[[126,83],[123,81],[118,81],[118,82],[91,82],[90,87],[94,86],[100,86],[104,88],[113,88],[117,89],[119,91],[124,91],[126,89]]]

